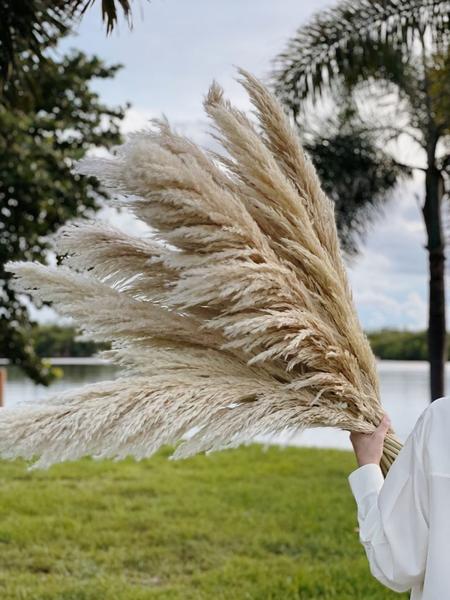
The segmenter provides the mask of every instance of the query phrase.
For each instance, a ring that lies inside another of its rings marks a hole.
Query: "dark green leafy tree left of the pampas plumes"
[[[22,54],[16,80],[0,102],[0,348],[43,384],[52,373],[34,351],[27,308],[3,265],[11,259],[44,262],[47,234],[99,208],[105,190],[71,167],[92,147],[119,143],[124,116],[123,108],[104,105],[89,87],[93,78],[113,77],[118,65],[107,67],[82,52],[56,60],[50,49],[40,62]],[[27,85],[18,93],[23,74]]]

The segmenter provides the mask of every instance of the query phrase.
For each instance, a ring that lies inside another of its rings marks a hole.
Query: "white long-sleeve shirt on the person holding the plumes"
[[[386,479],[367,464],[348,480],[372,575],[411,600],[450,600],[450,397],[423,411]]]

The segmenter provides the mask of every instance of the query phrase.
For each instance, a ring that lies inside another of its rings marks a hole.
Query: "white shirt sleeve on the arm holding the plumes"
[[[364,465],[348,478],[370,571],[396,592],[420,586],[425,575],[429,510],[422,464],[423,422],[422,415],[386,479],[376,464]]]

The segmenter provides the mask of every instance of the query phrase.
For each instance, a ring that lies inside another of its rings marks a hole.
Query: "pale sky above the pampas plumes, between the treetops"
[[[95,88],[111,104],[131,101],[138,109],[164,112],[173,119],[202,117],[202,96],[217,79],[233,102],[248,107],[234,78],[235,65],[266,76],[271,60],[285,48],[296,28],[333,0],[259,0],[210,2],[153,0],[142,14],[134,8],[133,29],[123,20],[106,36],[99,11],[86,11],[77,35],[63,41],[96,53],[109,64],[124,65],[111,81]]]

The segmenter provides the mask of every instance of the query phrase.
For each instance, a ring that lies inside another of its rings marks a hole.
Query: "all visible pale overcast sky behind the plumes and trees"
[[[195,141],[206,144],[202,98],[217,79],[237,106],[248,108],[234,81],[235,65],[266,78],[271,61],[296,28],[334,2],[326,0],[138,0],[133,29],[121,19],[106,37],[100,2],[89,9],[62,50],[80,48],[123,69],[95,84],[111,105],[131,102],[124,131],[164,113]],[[349,267],[357,309],[366,329],[423,328],[427,320],[427,257],[419,203],[422,182],[398,190],[386,217],[372,228]]]

